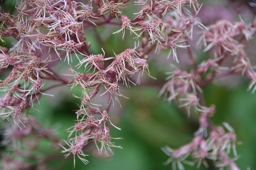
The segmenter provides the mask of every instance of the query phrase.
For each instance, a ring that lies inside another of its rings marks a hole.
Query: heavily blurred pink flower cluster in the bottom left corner
[[[8,152],[1,153],[2,170],[46,170],[54,158],[61,156],[57,135],[35,118],[20,120],[16,124],[4,122],[3,125],[1,145],[6,146]],[[38,157],[38,150],[45,152]]]

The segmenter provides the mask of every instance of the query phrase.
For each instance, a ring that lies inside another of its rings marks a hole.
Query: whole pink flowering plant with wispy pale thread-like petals
[[[203,88],[220,77],[241,75],[251,80],[248,90],[256,90],[255,68],[245,50],[256,32],[252,13],[247,14],[252,24],[241,15],[240,21],[216,18],[204,24],[207,16],[200,11],[205,8],[197,0],[17,0],[13,4],[13,14],[0,9],[0,117],[2,144],[9,150],[1,155],[3,170],[49,168],[47,163],[58,158],[54,150],[59,148],[73,158],[74,167],[76,158],[89,162],[86,149],[91,144],[99,155],[113,154],[112,148],[121,148],[115,144],[121,138],[110,136],[110,129],[121,128],[110,113],[122,105],[121,98],[129,98],[121,89],[148,84],[161,86],[159,97],[198,119],[191,142],[177,149],[162,148],[168,155],[166,164],[184,170],[184,164],[209,168],[210,161],[220,170],[239,169],[236,133],[227,122],[213,124],[216,106],[206,104]],[[109,33],[105,37],[118,38],[118,47],[108,46],[99,32],[88,40],[90,32],[102,28]],[[7,37],[15,39],[12,45]],[[165,82],[150,69],[150,59],[156,57],[169,62]],[[58,63],[65,65],[64,71],[56,68]],[[76,120],[66,130],[64,142],[26,111],[43,95],[58,97],[52,89],[61,86],[80,91],[73,94],[79,108],[73,109]],[[44,150],[42,141],[52,149],[38,156],[36,150]]]

